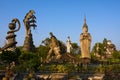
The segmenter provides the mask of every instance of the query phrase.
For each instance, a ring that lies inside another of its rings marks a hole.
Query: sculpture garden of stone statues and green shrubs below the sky
[[[66,43],[58,40],[51,31],[50,38],[35,47],[31,32],[32,27],[37,27],[35,11],[30,10],[23,22],[26,30],[23,46],[16,46],[15,39],[22,22],[15,18],[8,25],[6,44],[0,48],[0,80],[119,80],[120,51],[106,38],[90,50],[92,35],[86,17],[80,46],[72,43],[70,37]]]

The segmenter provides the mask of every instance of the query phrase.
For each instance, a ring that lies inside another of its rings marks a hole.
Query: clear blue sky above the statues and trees
[[[8,24],[13,18],[21,22],[21,29],[15,34],[17,46],[23,45],[23,19],[31,9],[37,17],[37,28],[32,30],[35,46],[49,37],[49,32],[63,42],[70,36],[72,42],[80,45],[79,38],[86,15],[92,46],[107,38],[120,50],[120,0],[1,0],[0,47],[5,44]]]

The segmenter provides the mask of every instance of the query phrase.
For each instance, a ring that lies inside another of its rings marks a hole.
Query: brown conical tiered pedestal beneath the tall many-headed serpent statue
[[[35,51],[35,46],[33,44],[33,38],[32,38],[31,33],[29,34],[29,36],[25,37],[23,51],[27,51],[27,52],[34,52]]]

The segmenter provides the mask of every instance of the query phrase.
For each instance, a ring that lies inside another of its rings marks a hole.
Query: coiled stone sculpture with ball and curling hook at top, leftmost
[[[18,28],[15,30],[16,24],[18,24]],[[7,32],[8,35],[6,37],[6,45],[2,50],[15,51],[17,42],[14,32],[17,32],[20,29],[20,21],[17,18],[13,19],[12,22],[9,23],[9,29],[10,31]]]

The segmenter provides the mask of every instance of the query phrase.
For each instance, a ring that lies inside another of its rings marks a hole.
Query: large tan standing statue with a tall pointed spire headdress
[[[90,45],[91,45],[91,35],[88,33],[88,26],[86,24],[86,18],[84,19],[83,32],[80,35],[80,45],[81,45],[81,58],[90,59]]]

